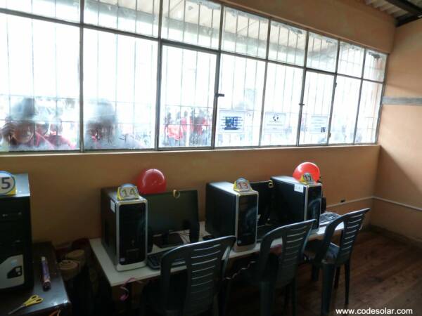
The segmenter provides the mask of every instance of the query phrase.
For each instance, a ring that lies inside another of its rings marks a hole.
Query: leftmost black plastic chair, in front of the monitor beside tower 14
[[[186,244],[162,256],[160,280],[146,287],[147,304],[160,315],[191,316],[210,311],[218,315],[219,289],[236,237]],[[186,270],[172,273],[177,258]]]

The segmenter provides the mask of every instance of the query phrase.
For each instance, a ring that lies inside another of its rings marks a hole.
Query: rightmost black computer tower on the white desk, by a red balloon
[[[312,229],[319,228],[322,184],[301,183],[288,176],[271,177],[274,183],[274,209],[283,223],[315,219]]]

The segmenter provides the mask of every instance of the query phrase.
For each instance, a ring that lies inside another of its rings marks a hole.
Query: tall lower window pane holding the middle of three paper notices
[[[268,64],[261,145],[295,145],[298,135],[301,68]]]

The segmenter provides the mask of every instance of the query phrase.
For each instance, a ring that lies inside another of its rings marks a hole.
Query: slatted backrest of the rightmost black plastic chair
[[[341,223],[343,223],[343,231],[340,237],[338,255],[333,263],[335,265],[340,265],[348,261],[352,255],[353,245],[356,241],[357,233],[362,228],[365,214],[369,212],[369,210],[370,209],[361,209],[359,211],[346,213],[329,223],[326,227],[324,240],[316,253],[314,261],[318,263],[325,258],[328,247],[331,244],[331,239],[335,232],[335,228]]]

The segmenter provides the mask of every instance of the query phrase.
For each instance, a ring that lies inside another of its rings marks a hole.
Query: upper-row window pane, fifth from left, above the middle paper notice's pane
[[[305,46],[306,31],[304,29],[271,21],[269,59],[303,66]]]

